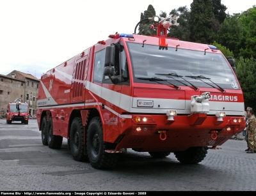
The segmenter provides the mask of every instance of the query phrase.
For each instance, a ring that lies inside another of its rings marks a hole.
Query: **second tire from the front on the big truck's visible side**
[[[81,117],[73,119],[70,127],[70,151],[77,162],[89,162],[87,155],[84,155],[84,126]]]

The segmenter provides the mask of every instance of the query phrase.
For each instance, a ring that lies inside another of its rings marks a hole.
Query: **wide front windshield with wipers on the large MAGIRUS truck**
[[[141,77],[158,77],[177,86],[193,84],[196,87],[239,89],[234,72],[222,54],[179,48],[175,51],[173,47],[159,50],[158,45],[141,47],[142,43],[131,42],[127,42],[127,46],[134,82],[159,84],[154,80],[141,80]]]

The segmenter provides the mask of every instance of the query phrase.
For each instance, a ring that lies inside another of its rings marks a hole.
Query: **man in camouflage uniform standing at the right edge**
[[[249,151],[246,153],[256,153],[256,119],[253,115],[252,108],[247,108],[247,116],[248,116],[248,125],[247,125],[247,132],[248,132],[248,143],[249,143]]]

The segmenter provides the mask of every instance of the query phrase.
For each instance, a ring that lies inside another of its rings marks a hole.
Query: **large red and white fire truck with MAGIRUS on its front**
[[[36,118],[42,143],[97,169],[122,149],[199,163],[243,131],[234,59],[216,47],[167,37],[178,17],[152,17],[149,36],[116,33],[42,75]]]

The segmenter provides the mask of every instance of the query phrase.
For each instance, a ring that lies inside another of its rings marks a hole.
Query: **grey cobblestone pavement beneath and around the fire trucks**
[[[255,191],[256,153],[246,154],[243,140],[220,147],[196,165],[182,165],[173,154],[155,159],[128,149],[115,169],[96,170],[72,159],[66,139],[60,150],[43,146],[36,120],[25,125],[1,119],[0,190]]]

